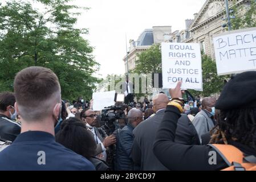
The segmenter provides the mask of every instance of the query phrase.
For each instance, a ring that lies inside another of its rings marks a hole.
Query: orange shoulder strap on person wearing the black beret
[[[243,153],[238,148],[230,144],[209,144],[209,146],[213,147],[229,166],[232,166],[233,162],[243,163]]]

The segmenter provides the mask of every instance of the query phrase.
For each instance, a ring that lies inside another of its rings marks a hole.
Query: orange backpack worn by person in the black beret
[[[256,157],[245,156],[238,148],[229,144],[208,144],[220,154],[229,167],[222,171],[256,171]]]

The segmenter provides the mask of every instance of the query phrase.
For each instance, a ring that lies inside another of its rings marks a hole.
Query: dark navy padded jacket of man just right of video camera
[[[128,123],[127,126],[123,127],[117,135],[116,142],[116,171],[132,171],[132,135],[133,126]]]

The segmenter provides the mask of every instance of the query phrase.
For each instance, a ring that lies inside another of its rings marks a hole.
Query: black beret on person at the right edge
[[[256,71],[234,76],[224,86],[216,109],[229,110],[256,107]]]

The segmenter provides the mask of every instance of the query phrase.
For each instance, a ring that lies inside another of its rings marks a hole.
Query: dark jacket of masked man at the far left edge
[[[0,114],[0,139],[11,142],[21,133],[21,125],[6,115]]]

